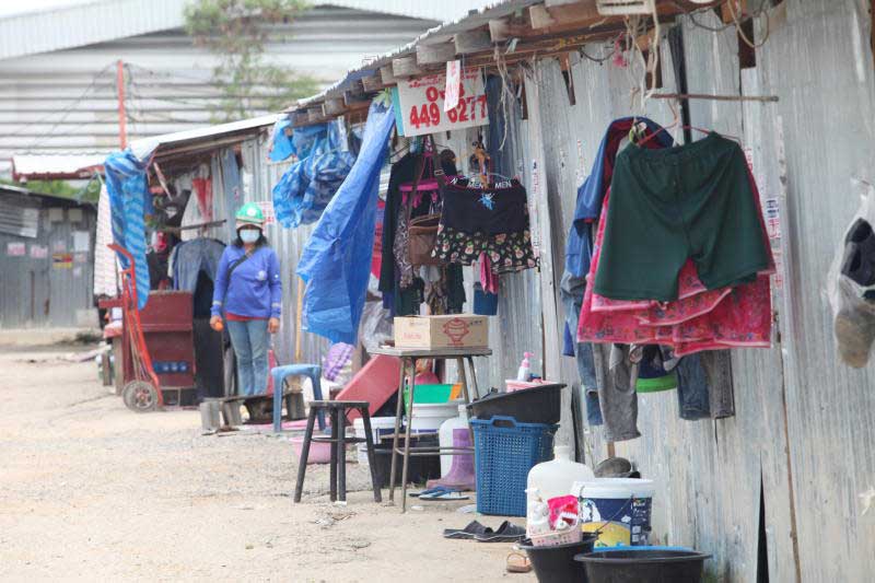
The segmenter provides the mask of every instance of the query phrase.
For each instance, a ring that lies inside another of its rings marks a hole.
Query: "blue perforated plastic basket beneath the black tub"
[[[559,425],[517,423],[513,417],[471,419],[477,512],[526,515],[526,480],[535,465],[552,458]]]

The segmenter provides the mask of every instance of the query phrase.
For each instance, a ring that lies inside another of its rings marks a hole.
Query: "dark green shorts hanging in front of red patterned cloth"
[[[691,258],[708,289],[769,267],[762,219],[740,147],[718,133],[686,145],[630,145],[617,156],[595,292],[677,299]]]

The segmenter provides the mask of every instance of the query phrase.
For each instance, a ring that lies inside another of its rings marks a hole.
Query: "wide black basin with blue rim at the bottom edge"
[[[710,558],[695,550],[658,547],[604,550],[574,557],[584,565],[590,583],[700,583],[704,561]]]

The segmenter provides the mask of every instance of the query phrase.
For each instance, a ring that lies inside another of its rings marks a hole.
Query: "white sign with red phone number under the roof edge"
[[[434,74],[398,83],[404,135],[423,136],[489,124],[486,88],[479,69],[462,75],[458,105],[444,112],[446,75]]]

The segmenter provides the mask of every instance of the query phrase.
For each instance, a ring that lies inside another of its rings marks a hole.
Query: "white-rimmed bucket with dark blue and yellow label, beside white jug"
[[[574,482],[572,493],[580,499],[583,532],[600,532],[596,547],[650,544],[653,480],[597,478]]]

